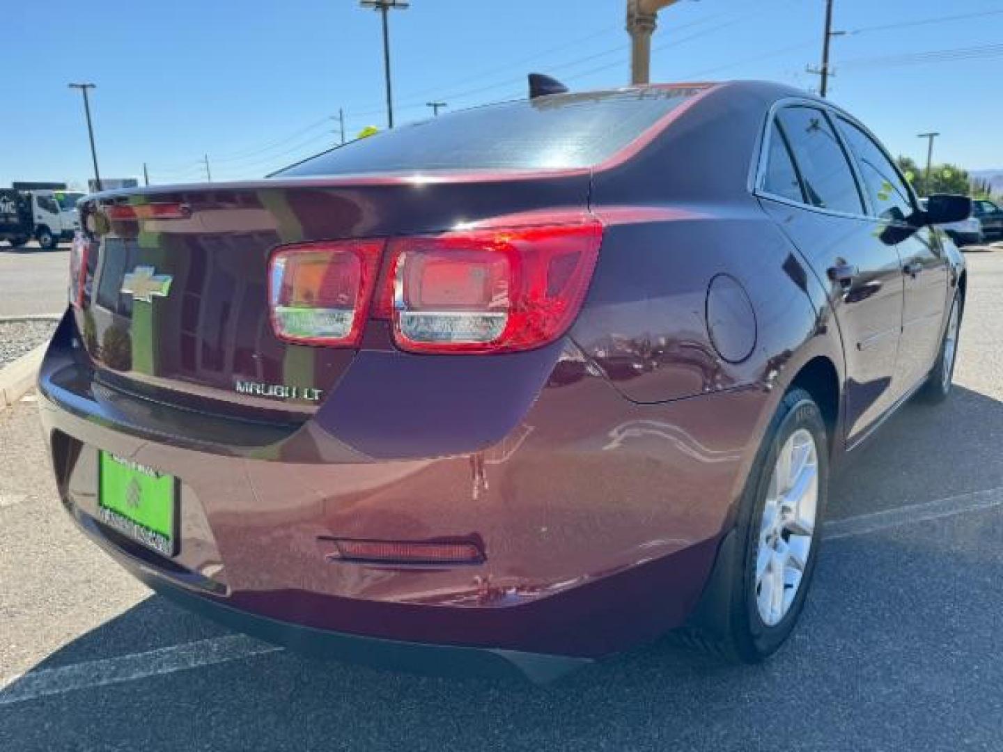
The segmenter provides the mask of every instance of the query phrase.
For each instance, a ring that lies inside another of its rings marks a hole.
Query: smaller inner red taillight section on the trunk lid
[[[382,241],[307,243],[278,249],[268,273],[276,335],[308,345],[358,344],[382,251]]]

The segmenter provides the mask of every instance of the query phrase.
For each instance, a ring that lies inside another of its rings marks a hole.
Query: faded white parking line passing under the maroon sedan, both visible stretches
[[[926,503],[901,506],[886,511],[858,514],[827,522],[826,540],[903,527],[942,517],[965,514],[1003,505],[1003,486],[984,491],[961,493]],[[0,706],[61,695],[74,690],[103,687],[202,666],[240,661],[251,656],[275,653],[282,648],[244,635],[199,640],[184,645],[131,653],[116,658],[39,669],[0,680]]]

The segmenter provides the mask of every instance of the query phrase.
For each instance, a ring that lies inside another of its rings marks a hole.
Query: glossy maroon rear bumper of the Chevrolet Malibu
[[[546,680],[681,625],[729,525],[763,399],[639,406],[583,375],[553,380],[487,450],[373,459],[319,419],[249,448],[225,439],[258,429],[207,428],[217,418],[95,382],[75,336],[64,319],[40,373],[41,419],[63,503],[92,539],[237,629],[346,660],[428,659],[436,673],[448,657]],[[184,432],[193,420],[196,437]],[[305,442],[297,456],[313,461],[285,459]],[[97,449],[182,479],[177,556],[97,520]],[[486,560],[345,562],[331,536],[475,539]]]

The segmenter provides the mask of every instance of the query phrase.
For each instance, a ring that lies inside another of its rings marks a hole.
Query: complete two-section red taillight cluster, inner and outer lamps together
[[[586,221],[399,238],[381,275],[381,240],[284,246],[269,269],[272,326],[288,342],[357,345],[375,295],[373,318],[392,321],[403,350],[530,350],[571,326],[602,237]]]

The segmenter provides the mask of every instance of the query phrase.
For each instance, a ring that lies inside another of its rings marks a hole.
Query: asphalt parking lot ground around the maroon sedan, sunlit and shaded
[[[235,636],[74,530],[29,395],[0,413],[0,749],[1000,749],[1003,251],[968,261],[954,394],[843,468],[800,627],[756,667],[666,640],[538,687]]]

